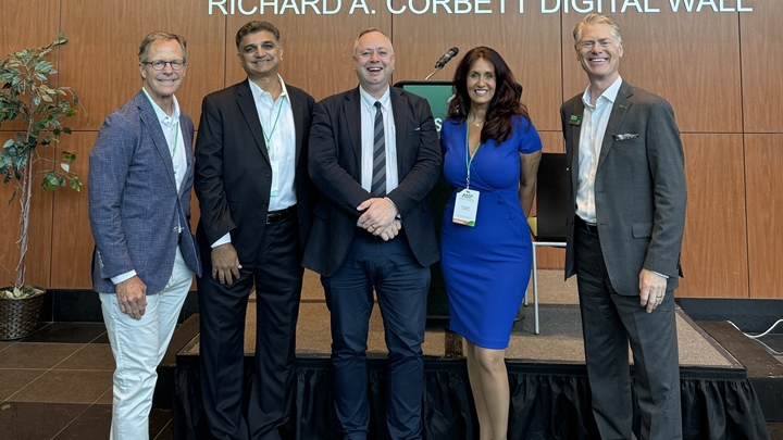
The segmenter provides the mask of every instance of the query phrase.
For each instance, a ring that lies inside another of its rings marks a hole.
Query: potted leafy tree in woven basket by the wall
[[[0,126],[16,120],[24,126],[10,139],[0,138],[0,176],[4,175],[4,184],[13,181],[15,187],[9,205],[14,201],[21,205],[15,279],[13,286],[0,289],[0,340],[22,338],[33,331],[44,302],[45,290],[25,282],[34,183],[41,178],[44,189],[82,188],[82,181],[71,171],[76,159],[73,153],[61,151],[61,160],[57,161],[38,151],[39,147],[57,149],[60,136],[71,134],[61,120],[74,116],[76,106],[80,106],[71,88],[57,87],[57,77],[52,77],[57,71],[46,60],[47,53],[65,42],[67,39],[60,33],[47,46],[9,53],[0,61]]]

